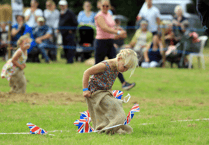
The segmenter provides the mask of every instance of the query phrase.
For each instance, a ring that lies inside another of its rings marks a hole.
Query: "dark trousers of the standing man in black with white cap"
[[[67,59],[67,63],[73,63],[73,58],[75,56],[75,35],[74,34],[62,34],[62,43],[64,45],[64,53]]]

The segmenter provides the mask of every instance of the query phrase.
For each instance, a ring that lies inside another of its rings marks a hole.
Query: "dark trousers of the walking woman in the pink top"
[[[116,57],[116,50],[113,46],[113,39],[104,39],[104,40],[95,40],[95,64],[103,61],[107,56],[109,59]],[[125,81],[123,74],[119,73],[118,78],[120,82],[123,83]]]

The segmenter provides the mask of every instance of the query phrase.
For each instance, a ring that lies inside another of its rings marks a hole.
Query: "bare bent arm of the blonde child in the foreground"
[[[83,74],[83,88],[88,88],[88,81],[89,81],[90,75],[103,73],[105,68],[106,68],[106,65],[104,63],[99,63],[88,68]],[[90,97],[90,95],[91,95],[90,91],[83,92],[84,97]]]

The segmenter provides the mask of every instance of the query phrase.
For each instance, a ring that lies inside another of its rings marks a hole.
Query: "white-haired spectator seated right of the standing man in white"
[[[181,36],[186,31],[182,23],[185,20],[187,20],[187,18],[183,16],[183,9],[180,5],[175,7],[174,12],[176,15],[173,19],[173,30],[174,30],[175,36],[178,37],[178,41],[179,41],[181,39]]]

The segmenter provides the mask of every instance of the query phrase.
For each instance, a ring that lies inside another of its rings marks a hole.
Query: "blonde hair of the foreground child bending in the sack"
[[[122,49],[116,56],[117,59],[119,57],[124,60],[124,65],[128,67],[128,70],[131,71],[131,77],[135,71],[135,68],[138,66],[138,58],[136,52],[132,49]]]

